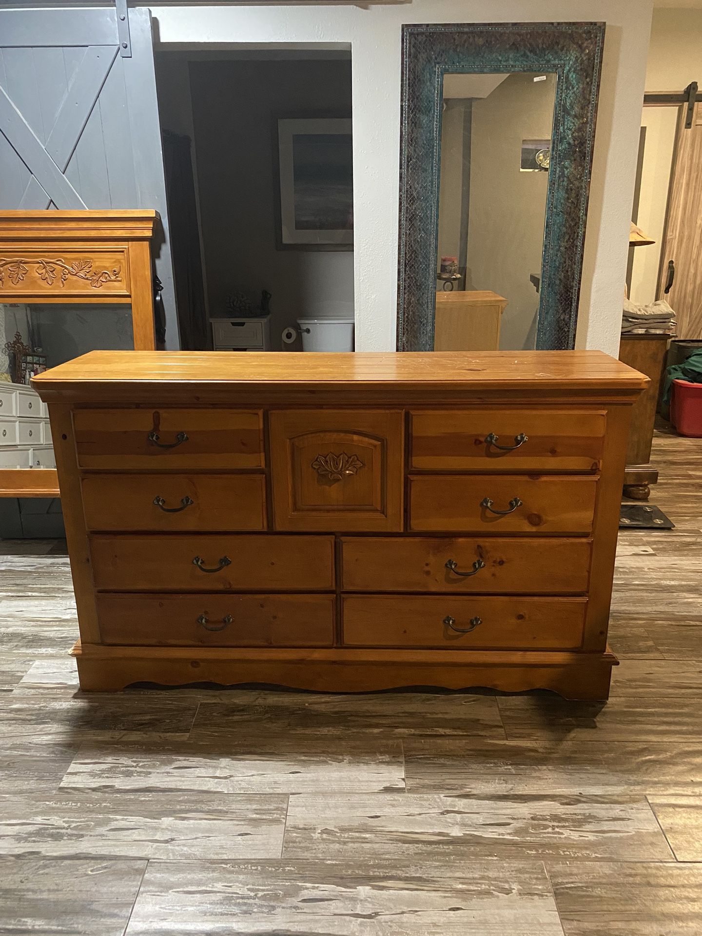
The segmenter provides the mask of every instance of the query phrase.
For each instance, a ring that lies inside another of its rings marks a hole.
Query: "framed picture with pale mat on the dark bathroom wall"
[[[353,250],[351,118],[281,117],[278,250]]]

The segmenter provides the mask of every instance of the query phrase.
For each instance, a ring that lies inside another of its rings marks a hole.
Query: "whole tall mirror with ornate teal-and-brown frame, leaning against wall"
[[[603,40],[404,27],[399,350],[574,346]]]

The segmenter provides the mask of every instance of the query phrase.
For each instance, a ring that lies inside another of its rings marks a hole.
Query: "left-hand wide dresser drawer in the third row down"
[[[310,592],[334,587],[331,536],[94,535],[90,553],[95,588],[107,591]]]

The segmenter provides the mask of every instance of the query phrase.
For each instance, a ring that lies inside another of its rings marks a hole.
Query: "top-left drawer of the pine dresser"
[[[73,415],[81,468],[263,466],[261,415],[231,409],[95,409]]]

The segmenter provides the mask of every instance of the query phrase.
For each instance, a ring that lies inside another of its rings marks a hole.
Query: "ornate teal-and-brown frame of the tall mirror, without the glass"
[[[397,348],[433,349],[444,75],[554,72],[536,348],[572,348],[605,24],[402,26]]]

